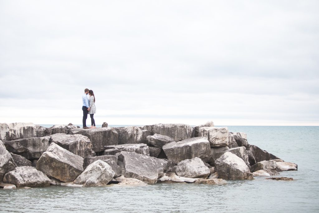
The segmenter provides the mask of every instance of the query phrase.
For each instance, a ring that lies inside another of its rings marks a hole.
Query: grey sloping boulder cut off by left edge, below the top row
[[[17,164],[5,148],[3,142],[0,141],[0,182],[3,180],[5,173],[14,170],[16,167]]]

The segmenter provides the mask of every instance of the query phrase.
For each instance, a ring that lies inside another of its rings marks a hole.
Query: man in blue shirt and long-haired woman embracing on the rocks
[[[87,94],[89,94],[89,97],[87,97]],[[84,94],[82,95],[82,110],[83,110],[83,129],[89,129],[89,128],[96,128],[95,127],[95,120],[93,118],[94,114],[96,113],[95,108],[95,96],[92,90],[85,89]],[[90,114],[91,117],[91,127],[86,126],[86,118],[87,114]]]

